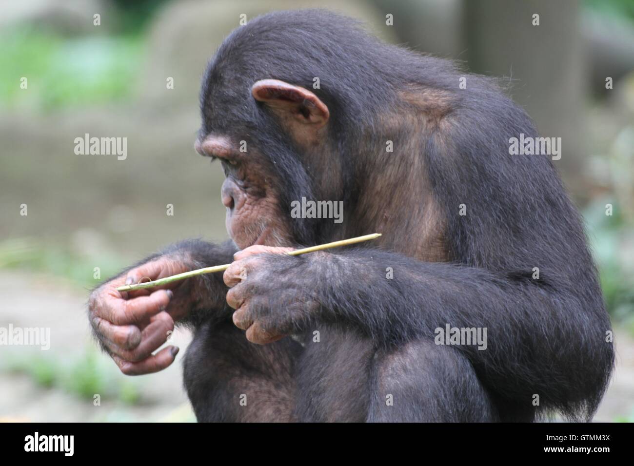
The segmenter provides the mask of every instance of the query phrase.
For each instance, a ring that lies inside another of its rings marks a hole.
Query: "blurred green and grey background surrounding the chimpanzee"
[[[96,350],[85,316],[94,269],[103,279],[166,243],[226,237],[221,170],[193,150],[205,64],[242,13],[315,6],[505,77],[540,133],[562,137],[555,163],[616,330],[616,377],[596,419],[634,420],[634,0],[1,3],[0,327],[50,327],[51,349],[0,347],[0,419],[193,420],[178,362],[131,379]],[[127,159],[75,155],[85,133],[126,137]],[[178,359],[189,339],[175,333]]]

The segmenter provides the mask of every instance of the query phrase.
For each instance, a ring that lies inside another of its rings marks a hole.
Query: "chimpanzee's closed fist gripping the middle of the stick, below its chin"
[[[286,256],[290,250],[251,246],[237,252],[224,271],[224,283],[231,288],[227,303],[236,309],[233,323],[247,330],[252,343],[271,343],[299,330],[317,306],[311,293],[311,261]]]

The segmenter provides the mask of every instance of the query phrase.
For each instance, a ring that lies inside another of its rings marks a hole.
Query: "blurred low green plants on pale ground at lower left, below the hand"
[[[116,399],[134,405],[141,399],[137,382],[116,377],[118,371],[107,358],[100,358],[94,347],[78,352],[78,358],[56,358],[53,354],[10,353],[3,359],[3,370],[29,375],[37,385],[58,388],[83,399],[93,399],[95,394],[101,401]]]

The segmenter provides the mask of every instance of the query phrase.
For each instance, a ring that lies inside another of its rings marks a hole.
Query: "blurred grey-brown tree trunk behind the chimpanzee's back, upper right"
[[[512,97],[541,136],[562,138],[555,165],[583,197],[586,147],[583,106],[587,73],[576,0],[463,0],[467,61],[472,71],[509,77]],[[540,25],[533,25],[533,14]]]

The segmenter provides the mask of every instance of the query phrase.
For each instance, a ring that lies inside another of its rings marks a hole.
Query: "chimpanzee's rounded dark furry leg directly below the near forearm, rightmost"
[[[377,351],[368,422],[486,422],[496,410],[458,349],[418,340]]]

